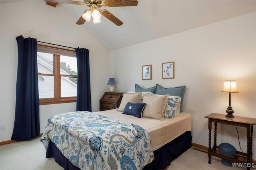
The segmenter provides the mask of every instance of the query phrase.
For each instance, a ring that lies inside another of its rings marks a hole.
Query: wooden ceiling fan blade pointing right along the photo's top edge
[[[138,0],[103,0],[102,5],[106,7],[137,6]]]

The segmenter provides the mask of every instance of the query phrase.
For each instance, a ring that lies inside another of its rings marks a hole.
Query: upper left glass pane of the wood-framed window
[[[53,74],[53,54],[37,52],[38,72]]]

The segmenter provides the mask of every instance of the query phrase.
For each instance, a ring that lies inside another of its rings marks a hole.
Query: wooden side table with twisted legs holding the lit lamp
[[[231,118],[231,117],[225,117],[224,114],[218,114],[218,113],[211,113],[210,115],[207,115],[205,117],[208,118],[208,129],[209,129],[209,149],[208,149],[209,160],[208,160],[208,163],[211,164],[211,156],[216,156],[216,157],[219,157],[222,159],[229,160],[231,162],[247,163],[246,164],[247,170],[250,170],[250,167],[252,165],[252,132],[253,132],[253,125],[256,125],[256,119],[249,118],[249,117],[240,117],[240,116],[235,116],[235,117]],[[214,122],[214,144],[213,144],[213,147],[211,147],[212,122]],[[247,153],[236,151],[236,155],[244,156],[246,158],[246,161],[238,160],[236,157],[230,158],[228,156],[224,156],[224,155],[220,154],[219,147],[216,144],[217,123],[246,128]]]

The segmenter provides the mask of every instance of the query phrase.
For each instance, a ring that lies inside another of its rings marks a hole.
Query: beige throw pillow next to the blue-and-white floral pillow
[[[164,109],[169,96],[169,94],[164,96],[144,94],[143,103],[147,106],[144,108],[142,117],[164,120]]]

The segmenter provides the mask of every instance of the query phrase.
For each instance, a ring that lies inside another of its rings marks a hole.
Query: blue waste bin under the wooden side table
[[[229,143],[221,143],[219,145],[220,154],[234,158],[236,155],[236,148]],[[226,166],[232,166],[232,162],[229,160],[221,159],[221,163]]]

